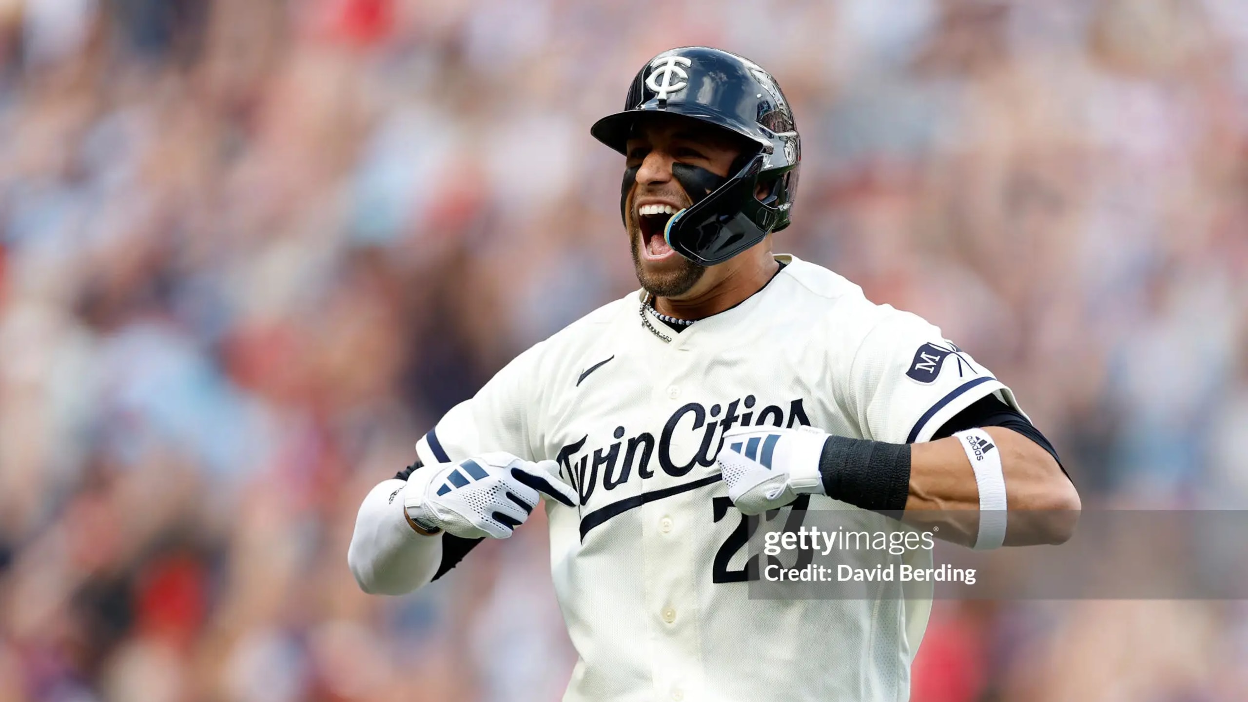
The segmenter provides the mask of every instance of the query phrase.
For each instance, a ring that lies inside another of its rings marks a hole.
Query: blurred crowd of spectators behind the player
[[[1242,0],[0,0],[0,702],[558,700],[542,523],[399,598],[346,548],[635,287],[588,130],[685,44],[795,106],[778,250],[993,368],[1085,508],[1248,507]],[[914,700],[1248,700],[1248,606],[938,602]]]

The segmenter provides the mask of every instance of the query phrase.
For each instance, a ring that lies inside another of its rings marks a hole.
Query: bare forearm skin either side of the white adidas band
[[[985,427],[1001,451],[1006,503],[1011,513],[1006,546],[1062,543],[1073,530],[1081,508],[1078,492],[1057,461],[1036,442],[1005,427]],[[947,511],[966,518],[942,521],[953,526],[942,535],[948,541],[970,545],[975,541],[980,510],[980,491],[975,471],[956,437],[911,446],[910,495],[906,498],[909,522],[929,522],[931,512]],[[1027,512],[1043,512],[1027,518]],[[1017,515],[1016,515],[1017,513]]]

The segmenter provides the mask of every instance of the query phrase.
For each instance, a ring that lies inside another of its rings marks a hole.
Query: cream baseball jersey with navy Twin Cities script
[[[750,600],[746,521],[715,462],[723,433],[812,425],[916,442],[988,393],[1016,402],[937,327],[778,259],[766,287],[670,342],[641,325],[640,294],[600,307],[417,445],[426,465],[485,451],[555,460],[579,493],[575,507],[547,501],[579,655],[564,700],[909,698],[930,600]],[[855,508],[805,497],[811,510]]]

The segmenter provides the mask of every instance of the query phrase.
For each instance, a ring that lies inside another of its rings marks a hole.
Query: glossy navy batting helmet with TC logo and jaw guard
[[[706,266],[721,264],[789,226],[789,210],[797,190],[801,139],[789,101],[775,79],[761,66],[709,46],[681,46],[659,54],[638,71],[624,111],[590,127],[603,144],[626,154],[639,116],[648,112],[684,115],[744,136],[746,149],[729,177],[674,167],[674,176],[693,206],[668,220],[668,245]],[[759,200],[760,185],[768,195]],[[620,214],[631,187],[628,177]]]

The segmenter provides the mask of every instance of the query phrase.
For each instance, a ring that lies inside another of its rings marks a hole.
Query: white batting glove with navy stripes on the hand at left
[[[417,470],[403,488],[409,520],[427,532],[507,538],[545,495],[572,507],[577,492],[559,480],[559,463],[493,452]]]

